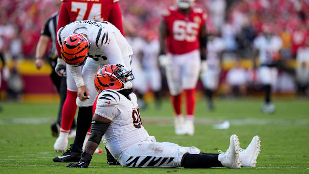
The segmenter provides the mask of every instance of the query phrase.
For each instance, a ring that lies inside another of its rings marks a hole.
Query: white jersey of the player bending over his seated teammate
[[[114,57],[127,57],[133,54],[131,46],[120,31],[107,21],[82,20],[72,22],[58,30],[57,40],[59,45],[73,33],[84,33],[89,42],[89,57],[99,64],[110,63]],[[116,62],[118,63],[118,62]]]

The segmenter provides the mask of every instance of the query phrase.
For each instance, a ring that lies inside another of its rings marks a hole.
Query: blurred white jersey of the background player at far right
[[[278,53],[282,47],[282,40],[278,36],[272,36],[267,39],[264,36],[258,36],[253,41],[253,47],[259,50],[260,63],[269,65],[273,63],[273,56]]]

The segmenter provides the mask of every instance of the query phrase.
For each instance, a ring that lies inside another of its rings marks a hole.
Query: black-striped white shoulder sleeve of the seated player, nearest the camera
[[[95,113],[113,121],[114,118],[120,115],[120,111],[114,107],[119,102],[120,95],[118,92],[104,90],[98,96]]]

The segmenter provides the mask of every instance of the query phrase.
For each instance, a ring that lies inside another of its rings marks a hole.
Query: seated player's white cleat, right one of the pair
[[[240,149],[239,158],[243,167],[256,167],[257,158],[260,154],[261,141],[259,136],[254,136],[246,149]]]

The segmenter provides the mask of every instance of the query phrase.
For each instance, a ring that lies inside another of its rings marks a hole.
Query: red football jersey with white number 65
[[[182,14],[177,7],[163,10],[167,24],[167,46],[172,54],[184,54],[199,49],[199,35],[207,15],[203,9],[193,7],[189,14]]]

